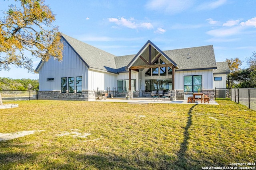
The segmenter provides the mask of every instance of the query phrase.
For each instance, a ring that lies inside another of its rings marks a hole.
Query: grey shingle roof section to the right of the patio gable
[[[176,71],[216,68],[212,45],[168,50],[163,52],[175,61],[178,66],[180,66],[180,69],[177,69]]]

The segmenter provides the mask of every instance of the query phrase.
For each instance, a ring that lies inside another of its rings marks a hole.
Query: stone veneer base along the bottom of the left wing
[[[61,93],[60,90],[38,91],[38,99],[94,101],[96,100],[96,91],[82,90],[82,93]]]

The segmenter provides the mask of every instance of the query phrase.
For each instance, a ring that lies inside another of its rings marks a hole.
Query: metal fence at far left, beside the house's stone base
[[[2,100],[36,100],[38,90],[1,90]]]

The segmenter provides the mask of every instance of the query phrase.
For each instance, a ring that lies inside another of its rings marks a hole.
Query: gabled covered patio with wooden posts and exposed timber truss
[[[129,72],[128,96],[133,98],[132,72],[138,72],[139,81],[145,85],[143,87],[139,85],[139,90],[144,93],[153,90],[167,92],[174,90],[174,74],[177,68],[179,66],[172,59],[154,43],[148,41],[125,68]],[[140,96],[145,95],[140,94]]]

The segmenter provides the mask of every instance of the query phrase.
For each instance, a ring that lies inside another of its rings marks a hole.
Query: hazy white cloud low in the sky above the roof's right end
[[[239,33],[241,33],[242,31],[242,27],[232,27],[232,28],[220,28],[220,29],[213,29],[210,31],[207,31],[206,33],[208,35],[212,35],[214,37],[227,37],[227,36],[231,36],[231,35],[237,35]]]

